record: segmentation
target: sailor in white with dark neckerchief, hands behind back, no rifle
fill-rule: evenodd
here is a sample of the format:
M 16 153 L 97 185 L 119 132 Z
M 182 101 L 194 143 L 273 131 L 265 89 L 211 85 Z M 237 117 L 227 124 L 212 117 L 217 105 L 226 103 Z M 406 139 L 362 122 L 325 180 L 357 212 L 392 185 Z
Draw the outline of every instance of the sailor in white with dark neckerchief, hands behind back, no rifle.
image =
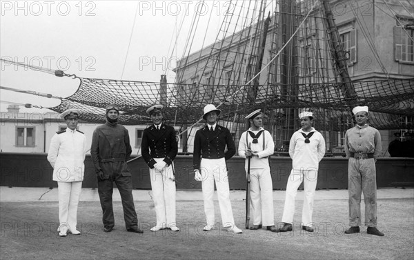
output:
M 289 143 L 289 155 L 292 158 L 292 170 L 286 186 L 286 199 L 282 222 L 284 226 L 279 232 L 293 230 L 293 214 L 295 214 L 295 197 L 300 183 L 304 182 L 304 207 L 302 210 L 302 229 L 313 232 L 312 212 L 313 198 L 317 184 L 319 161 L 325 155 L 325 139 L 312 127 L 313 113 L 299 113 L 301 129 L 293 133 Z

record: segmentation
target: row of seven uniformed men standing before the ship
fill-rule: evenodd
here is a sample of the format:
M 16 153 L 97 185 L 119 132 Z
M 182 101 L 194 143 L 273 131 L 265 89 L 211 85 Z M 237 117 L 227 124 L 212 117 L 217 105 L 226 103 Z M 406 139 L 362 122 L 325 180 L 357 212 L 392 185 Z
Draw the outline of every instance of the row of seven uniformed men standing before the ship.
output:
M 157 223 L 150 228 L 179 231 L 175 210 L 175 173 L 173 161 L 177 155 L 177 139 L 174 128 L 163 123 L 163 106 L 155 105 L 146 110 L 152 125 L 146 130 L 141 142 L 141 154 L 150 168 L 150 183 Z M 228 128 L 217 124 L 221 110 L 214 105 L 204 107 L 206 126 L 197 130 L 194 141 L 193 168 L 195 180 L 201 181 L 206 226 L 215 228 L 213 194 L 217 187 L 221 225 L 229 232 L 242 233 L 237 228 L 230 203 L 230 188 L 226 160 L 236 153 L 235 142 Z M 68 128 L 57 132 L 50 143 L 48 161 L 54 168 L 53 180 L 59 189 L 59 236 L 77 230 L 77 205 L 83 180 L 83 161 L 86 154 L 85 135 L 77 130 L 79 110 L 67 110 L 61 114 Z M 346 234 L 359 232 L 361 192 L 364 192 L 365 223 L 368 234 L 383 236 L 377 230 L 377 203 L 375 162 L 381 152 L 380 133 L 368 126 L 368 107 L 353 109 L 357 125 L 345 135 L 345 152 L 348 161 L 349 221 Z M 98 126 L 92 135 L 90 154 L 97 174 L 98 193 L 103 212 L 103 231 L 111 232 L 115 226 L 112 209 L 113 182 L 117 184 L 124 208 L 126 230 L 142 233 L 132 197 L 132 178 L 127 160 L 132 152 L 128 130 L 118 123 L 119 107 L 106 108 L 106 123 Z M 271 232 L 293 230 L 295 197 L 299 185 L 304 183 L 302 229 L 313 232 L 313 200 L 317 186 L 319 161 L 325 154 L 322 134 L 313 128 L 313 113 L 301 112 L 301 128 L 290 139 L 289 155 L 293 167 L 286 186 L 286 199 L 282 228 L 275 227 L 273 209 L 273 184 L 270 172 L 270 155 L 275 150 L 272 135 L 262 127 L 264 114 L 255 110 L 248 114 L 248 130 L 239 141 L 238 154 L 246 158 L 246 172 L 250 173 L 250 203 L 253 226 L 250 230 L 266 227 Z

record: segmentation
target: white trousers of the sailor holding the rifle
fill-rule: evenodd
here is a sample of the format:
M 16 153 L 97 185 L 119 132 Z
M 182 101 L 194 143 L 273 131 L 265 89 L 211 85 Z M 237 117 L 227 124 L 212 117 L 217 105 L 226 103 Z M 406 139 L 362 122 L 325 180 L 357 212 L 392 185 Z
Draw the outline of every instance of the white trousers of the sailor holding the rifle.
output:
M 250 203 L 253 225 L 275 225 L 273 183 L 270 168 L 250 169 Z

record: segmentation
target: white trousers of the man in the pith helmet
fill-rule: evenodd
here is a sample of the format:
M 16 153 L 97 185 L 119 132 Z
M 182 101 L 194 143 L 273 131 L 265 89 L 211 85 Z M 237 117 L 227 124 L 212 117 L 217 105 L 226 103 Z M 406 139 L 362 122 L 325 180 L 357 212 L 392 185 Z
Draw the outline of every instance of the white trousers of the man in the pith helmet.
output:
M 201 159 L 200 173 L 202 177 L 201 188 L 203 190 L 204 213 L 206 214 L 207 225 L 215 225 L 214 212 L 214 183 L 217 187 L 217 197 L 221 213 L 221 222 L 224 227 L 235 225 L 233 210 L 230 203 L 230 188 L 226 161 L 221 159 Z

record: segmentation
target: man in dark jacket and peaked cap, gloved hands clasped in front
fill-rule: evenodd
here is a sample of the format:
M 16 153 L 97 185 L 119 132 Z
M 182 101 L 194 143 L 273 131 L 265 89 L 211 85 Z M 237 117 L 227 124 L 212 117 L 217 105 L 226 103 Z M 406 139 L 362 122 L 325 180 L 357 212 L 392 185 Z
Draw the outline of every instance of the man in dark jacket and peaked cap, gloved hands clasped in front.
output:
M 148 110 L 152 125 L 142 135 L 142 157 L 150 167 L 152 199 L 157 214 L 157 224 L 151 231 L 170 228 L 178 231 L 175 222 L 175 177 L 172 160 L 177 156 L 178 146 L 175 130 L 162 123 L 162 105 Z

